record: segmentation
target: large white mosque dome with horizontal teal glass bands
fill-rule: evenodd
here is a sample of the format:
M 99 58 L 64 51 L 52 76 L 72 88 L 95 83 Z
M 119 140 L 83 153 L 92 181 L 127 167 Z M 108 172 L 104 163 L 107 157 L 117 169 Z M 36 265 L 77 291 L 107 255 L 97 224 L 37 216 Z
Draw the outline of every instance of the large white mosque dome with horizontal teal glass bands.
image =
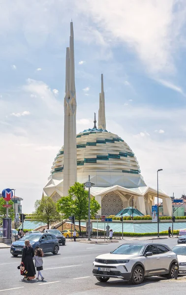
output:
M 124 140 L 102 129 L 87 129 L 77 136 L 77 180 L 91 180 L 97 187 L 145 186 L 138 161 Z M 49 179 L 63 178 L 63 147 L 53 162 Z

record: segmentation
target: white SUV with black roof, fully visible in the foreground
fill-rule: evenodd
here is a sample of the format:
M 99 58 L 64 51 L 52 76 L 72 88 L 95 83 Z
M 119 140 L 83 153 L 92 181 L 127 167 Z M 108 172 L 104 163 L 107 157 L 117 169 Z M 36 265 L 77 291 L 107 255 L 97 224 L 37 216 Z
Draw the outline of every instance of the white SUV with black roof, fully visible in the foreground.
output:
M 99 282 L 120 278 L 140 284 L 144 277 L 174 277 L 177 255 L 162 244 L 126 243 L 116 250 L 99 255 L 93 262 L 93 275 Z

